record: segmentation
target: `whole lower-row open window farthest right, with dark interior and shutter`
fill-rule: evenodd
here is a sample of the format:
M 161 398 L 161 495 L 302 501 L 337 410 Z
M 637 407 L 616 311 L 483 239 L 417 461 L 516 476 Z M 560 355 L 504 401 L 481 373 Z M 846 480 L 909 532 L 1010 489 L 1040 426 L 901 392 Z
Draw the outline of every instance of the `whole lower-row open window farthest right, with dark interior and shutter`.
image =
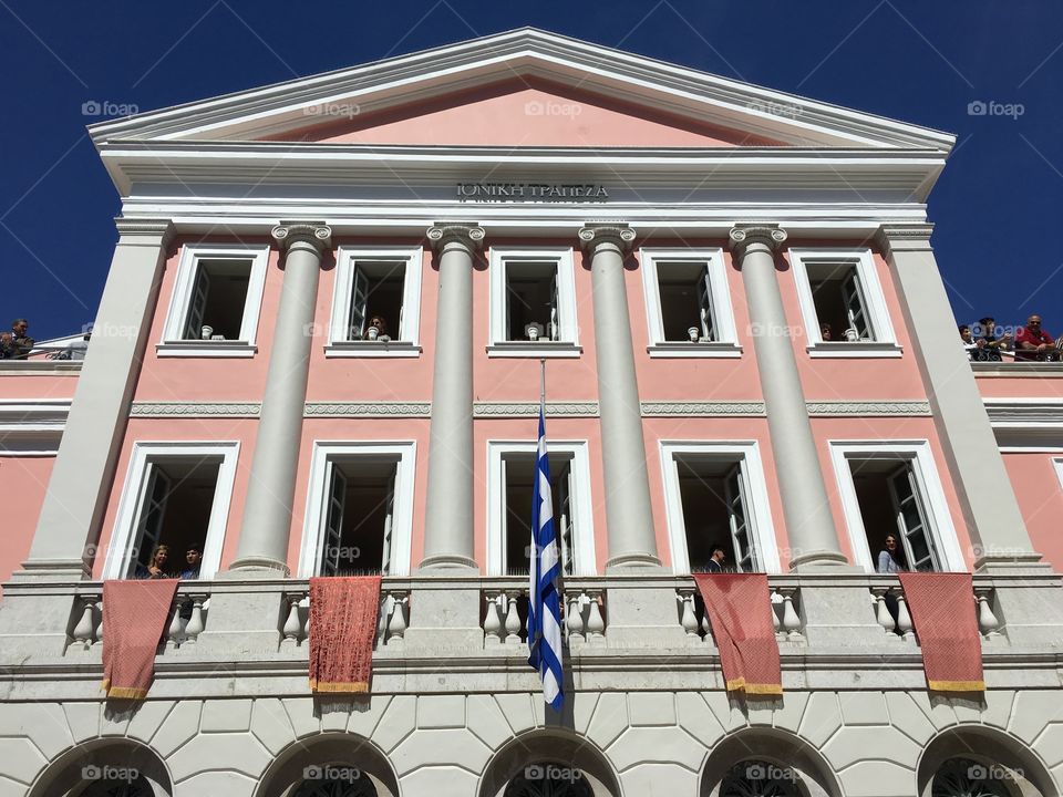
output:
M 832 443 L 830 454 L 858 563 L 875 572 L 892 536 L 894 559 L 906 570 L 963 569 L 927 443 Z

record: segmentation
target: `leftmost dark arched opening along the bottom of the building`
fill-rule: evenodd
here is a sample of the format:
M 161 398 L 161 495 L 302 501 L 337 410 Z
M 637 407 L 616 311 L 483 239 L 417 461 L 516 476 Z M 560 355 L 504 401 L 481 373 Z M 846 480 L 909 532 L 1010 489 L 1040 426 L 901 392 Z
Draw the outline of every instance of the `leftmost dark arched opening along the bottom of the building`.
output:
M 106 794 L 107 784 L 124 784 L 128 797 L 172 797 L 174 794 L 169 769 L 151 747 L 128 738 L 97 738 L 83 742 L 52 760 L 37 776 L 27 797 Z

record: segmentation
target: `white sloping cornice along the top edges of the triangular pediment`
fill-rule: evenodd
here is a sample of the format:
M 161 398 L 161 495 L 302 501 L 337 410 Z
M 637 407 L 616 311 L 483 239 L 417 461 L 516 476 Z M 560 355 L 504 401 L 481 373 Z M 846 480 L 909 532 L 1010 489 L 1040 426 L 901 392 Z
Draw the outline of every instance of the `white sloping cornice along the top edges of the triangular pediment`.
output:
M 308 110 L 326 103 L 348 103 L 367 114 L 529 76 L 786 144 L 947 153 L 954 142 L 926 127 L 529 28 L 103 122 L 90 132 L 97 146 L 118 138 L 255 138 L 307 127 Z M 786 113 L 772 113 L 776 106 Z

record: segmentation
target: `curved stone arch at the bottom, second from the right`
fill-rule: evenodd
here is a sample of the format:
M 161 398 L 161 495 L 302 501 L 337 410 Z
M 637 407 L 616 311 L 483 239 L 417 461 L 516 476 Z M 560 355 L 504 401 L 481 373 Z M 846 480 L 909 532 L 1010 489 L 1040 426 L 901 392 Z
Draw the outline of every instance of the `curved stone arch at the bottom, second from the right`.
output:
M 721 739 L 701 773 L 700 797 L 720 797 L 735 767 L 760 767 L 768 775 L 792 778 L 799 797 L 840 797 L 842 787 L 830 765 L 808 742 L 776 728 L 746 727 Z

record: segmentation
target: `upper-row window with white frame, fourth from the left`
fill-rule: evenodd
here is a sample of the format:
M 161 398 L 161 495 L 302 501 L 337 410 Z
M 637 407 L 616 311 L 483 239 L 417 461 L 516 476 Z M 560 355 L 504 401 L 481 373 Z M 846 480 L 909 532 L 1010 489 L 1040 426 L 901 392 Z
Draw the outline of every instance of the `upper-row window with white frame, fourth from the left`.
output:
M 642 249 L 650 356 L 739 356 L 721 249 Z

